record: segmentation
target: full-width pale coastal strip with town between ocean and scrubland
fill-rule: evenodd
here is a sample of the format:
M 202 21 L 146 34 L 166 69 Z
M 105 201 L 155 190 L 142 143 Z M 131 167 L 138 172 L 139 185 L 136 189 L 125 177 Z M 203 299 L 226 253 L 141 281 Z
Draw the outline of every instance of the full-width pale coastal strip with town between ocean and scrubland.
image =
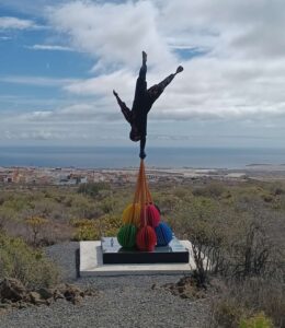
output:
M 135 183 L 138 167 L 81 168 L 0 166 L 0 184 L 75 186 L 86 183 Z M 186 183 L 195 179 L 272 181 L 285 180 L 285 165 L 251 164 L 246 168 L 146 167 L 150 183 Z

